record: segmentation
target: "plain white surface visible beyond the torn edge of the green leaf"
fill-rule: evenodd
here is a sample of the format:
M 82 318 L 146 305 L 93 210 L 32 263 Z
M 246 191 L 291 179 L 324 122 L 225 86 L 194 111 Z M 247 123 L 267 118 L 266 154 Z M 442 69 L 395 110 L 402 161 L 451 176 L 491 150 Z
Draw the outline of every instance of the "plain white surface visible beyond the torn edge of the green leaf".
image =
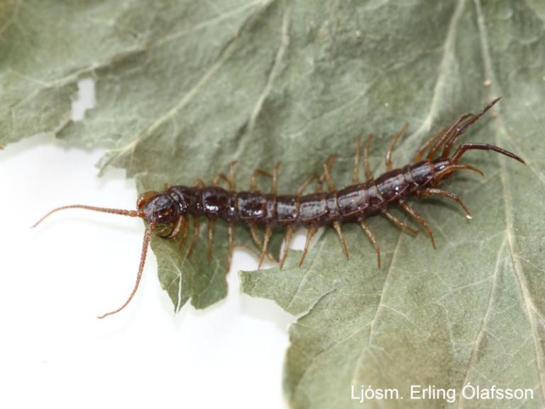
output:
M 285 408 L 294 318 L 239 294 L 255 258 L 236 251 L 226 300 L 174 315 L 150 251 L 131 305 L 97 320 L 132 288 L 141 220 L 74 209 L 30 228 L 59 205 L 134 208 L 123 171 L 97 177 L 103 153 L 46 137 L 0 151 L 0 407 Z

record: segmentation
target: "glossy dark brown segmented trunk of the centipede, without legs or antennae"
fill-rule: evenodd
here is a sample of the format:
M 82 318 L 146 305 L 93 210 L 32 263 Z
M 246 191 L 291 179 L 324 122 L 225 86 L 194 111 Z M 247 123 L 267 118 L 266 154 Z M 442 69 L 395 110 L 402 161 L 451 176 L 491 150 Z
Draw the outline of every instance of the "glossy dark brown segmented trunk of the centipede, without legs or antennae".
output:
M 173 186 L 158 194 L 163 200 L 150 203 L 148 220 L 154 210 L 164 209 L 165 202 L 175 204 L 170 214 L 191 214 L 194 217 L 224 219 L 269 227 L 323 226 L 334 222 L 363 220 L 405 200 L 427 187 L 448 160 L 422 160 L 404 168 L 390 170 L 375 180 L 350 185 L 341 190 L 309 195 L 273 195 L 258 191 L 229 192 L 221 187 Z M 155 222 L 163 222 L 155 220 Z

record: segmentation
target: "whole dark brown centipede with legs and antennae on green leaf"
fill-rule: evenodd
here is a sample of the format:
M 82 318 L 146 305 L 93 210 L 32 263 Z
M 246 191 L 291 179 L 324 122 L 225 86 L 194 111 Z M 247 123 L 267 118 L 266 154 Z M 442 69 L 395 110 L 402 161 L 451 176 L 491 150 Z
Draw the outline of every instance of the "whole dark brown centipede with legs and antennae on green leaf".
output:
M 494 151 L 518 160 L 525 165 L 524 160 L 514 153 L 488 143 L 461 143 L 456 151 L 452 153 L 456 141 L 463 133 L 500 99 L 501 97 L 492 100 L 476 114 L 468 113 L 460 116 L 451 126 L 441 129 L 441 131 L 428 138 L 416 151 L 409 164 L 404 165 L 402 168 L 393 168 L 392 151 L 400 137 L 407 131 L 408 124 L 404 124 L 402 129 L 395 133 L 387 148 L 385 156 L 386 172 L 382 173 L 378 178 L 375 178 L 370 170 L 369 150 L 373 138 L 370 134 L 365 146 L 363 146 L 364 182 L 360 182 L 359 178 L 360 140 L 358 138 L 354 158 L 353 184 L 342 189 L 336 189 L 334 182 L 331 180 L 331 168 L 336 161 L 336 156 L 327 157 L 324 160 L 323 172 L 311 175 L 292 195 L 277 195 L 277 173 L 280 162 L 275 165 L 272 172 L 261 169 L 255 170 L 251 176 L 250 189 L 245 191 L 236 190 L 234 172 L 236 162 L 232 162 L 229 165 L 228 175 L 220 173 L 214 178 L 211 185 L 205 185 L 199 179 L 192 186 L 167 186 L 165 190 L 160 192 L 145 192 L 138 197 L 136 209 L 113 209 L 90 205 L 57 207 L 45 214 L 33 227 L 38 226 L 51 214 L 65 209 L 86 209 L 94 212 L 121 214 L 128 217 L 139 217 L 146 222 L 140 265 L 138 266 L 133 289 L 120 307 L 100 315 L 99 318 L 120 312 L 133 299 L 141 281 L 148 245 L 153 234 L 167 240 L 181 237 L 181 248 L 188 237 L 189 224 L 192 222 L 192 237 L 187 250 L 187 257 L 189 257 L 199 237 L 202 218 L 208 221 L 207 257 L 209 262 L 212 257 L 216 221 L 222 219 L 227 223 L 229 253 L 226 262 L 228 271 L 235 247 L 234 231 L 236 224 L 245 224 L 248 227 L 255 246 L 258 247 L 258 268 L 261 267 L 265 258 L 275 259 L 268 253 L 268 245 L 273 231 L 277 229 L 285 231 L 284 246 L 278 261 L 280 269 L 282 269 L 287 258 L 290 241 L 297 228 L 307 228 L 307 238 L 299 260 L 299 266 L 302 266 L 312 237 L 320 227 L 331 227 L 336 231 L 342 251 L 346 258 L 349 258 L 342 225 L 357 223 L 374 247 L 378 268 L 380 269 L 380 248 L 375 234 L 365 222 L 366 219 L 382 216 L 403 231 L 416 234 L 417 229 L 409 226 L 409 224 L 398 219 L 390 212 L 392 207 L 400 207 L 426 231 L 431 239 L 431 245 L 435 248 L 436 244 L 431 227 L 422 215 L 408 205 L 407 200 L 409 198 L 445 197 L 460 205 L 466 217 L 470 219 L 470 212 L 461 198 L 453 192 L 440 188 L 441 183 L 451 178 L 453 173 L 458 170 L 471 170 L 484 175 L 483 171 L 475 168 L 475 166 L 460 162 L 467 151 Z M 258 190 L 257 181 L 259 176 L 265 176 L 272 180 L 269 193 Z M 316 191 L 305 194 L 304 192 L 313 182 L 316 182 Z M 221 187 L 221 183 L 226 188 Z M 324 190 L 322 185 L 326 185 L 327 189 Z M 264 229 L 263 240 L 260 239 L 258 228 Z

